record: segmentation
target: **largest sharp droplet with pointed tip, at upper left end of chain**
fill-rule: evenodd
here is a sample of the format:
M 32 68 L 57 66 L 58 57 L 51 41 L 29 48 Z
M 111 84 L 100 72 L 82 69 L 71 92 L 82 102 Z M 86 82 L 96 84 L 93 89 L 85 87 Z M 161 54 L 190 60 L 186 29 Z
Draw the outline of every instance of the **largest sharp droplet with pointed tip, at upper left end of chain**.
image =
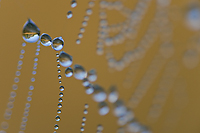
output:
M 24 41 L 29 43 L 35 43 L 38 41 L 40 37 L 40 29 L 31 19 L 28 19 L 28 21 L 24 24 L 22 37 Z

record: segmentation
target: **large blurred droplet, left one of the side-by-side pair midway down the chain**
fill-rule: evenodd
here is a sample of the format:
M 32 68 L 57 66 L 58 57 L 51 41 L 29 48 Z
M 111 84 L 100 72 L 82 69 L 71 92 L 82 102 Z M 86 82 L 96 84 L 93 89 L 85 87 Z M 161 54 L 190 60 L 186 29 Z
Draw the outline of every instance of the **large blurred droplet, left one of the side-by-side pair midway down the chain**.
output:
M 97 84 L 93 85 L 93 87 L 94 87 L 93 99 L 96 102 L 103 102 L 104 100 L 106 100 L 106 93 L 104 89 Z

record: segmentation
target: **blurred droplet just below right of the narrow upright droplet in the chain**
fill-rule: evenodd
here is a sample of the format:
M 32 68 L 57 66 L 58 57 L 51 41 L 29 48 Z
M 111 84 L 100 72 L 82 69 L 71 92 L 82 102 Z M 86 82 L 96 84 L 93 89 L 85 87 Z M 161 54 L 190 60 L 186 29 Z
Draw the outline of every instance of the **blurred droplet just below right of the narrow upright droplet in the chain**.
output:
M 117 117 L 123 116 L 127 113 L 127 108 L 124 105 L 124 102 L 121 100 L 117 100 L 114 103 L 114 115 Z

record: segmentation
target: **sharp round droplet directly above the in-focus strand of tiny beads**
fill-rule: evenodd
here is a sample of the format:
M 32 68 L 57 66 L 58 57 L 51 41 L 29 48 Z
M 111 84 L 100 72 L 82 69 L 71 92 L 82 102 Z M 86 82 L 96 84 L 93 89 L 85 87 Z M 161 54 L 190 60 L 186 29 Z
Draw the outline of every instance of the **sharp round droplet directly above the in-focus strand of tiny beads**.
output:
M 55 51 L 59 51 L 64 46 L 64 40 L 62 39 L 62 37 L 56 37 L 53 39 L 51 46 Z

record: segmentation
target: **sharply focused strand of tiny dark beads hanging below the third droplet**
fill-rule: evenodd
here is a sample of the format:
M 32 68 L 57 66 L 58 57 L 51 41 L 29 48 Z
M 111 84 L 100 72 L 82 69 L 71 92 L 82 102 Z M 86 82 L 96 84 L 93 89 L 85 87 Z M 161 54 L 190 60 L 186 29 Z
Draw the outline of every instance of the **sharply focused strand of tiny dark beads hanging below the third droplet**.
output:
M 56 61 L 57 61 L 57 68 L 58 68 L 58 70 L 57 70 L 57 72 L 58 72 L 58 79 L 59 79 L 59 84 L 61 84 L 62 83 L 62 81 L 61 81 L 61 78 L 62 78 L 62 76 L 61 76 L 61 70 L 60 70 L 60 64 L 59 64 L 59 54 L 58 53 L 56 53 L 56 57 L 57 57 L 57 59 L 56 59 Z M 56 117 L 55 117 L 55 120 L 58 122 L 58 121 L 60 121 L 60 114 L 61 114 L 61 108 L 62 108 L 62 102 L 63 102 L 63 99 L 62 99 L 62 97 L 64 96 L 64 94 L 63 94 L 63 91 L 64 91 L 64 86 L 59 86 L 59 90 L 60 90 L 60 92 L 59 92 L 59 99 L 58 99 L 58 109 L 57 109 L 57 115 L 56 115 Z M 59 125 L 58 124 L 55 124 L 54 125 L 54 133 L 56 133 L 56 131 L 58 130 L 58 128 L 59 128 Z

